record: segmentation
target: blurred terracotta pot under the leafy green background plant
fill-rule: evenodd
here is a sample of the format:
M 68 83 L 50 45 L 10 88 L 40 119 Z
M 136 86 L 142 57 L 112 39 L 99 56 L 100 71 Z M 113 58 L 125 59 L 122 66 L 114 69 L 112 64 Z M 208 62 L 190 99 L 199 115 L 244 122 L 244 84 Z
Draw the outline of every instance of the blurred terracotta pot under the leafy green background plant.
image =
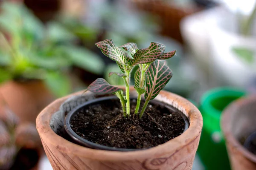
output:
M 53 99 L 41 81 L 10 81 L 0 86 L 0 104 L 5 101 L 21 122 L 35 122 L 38 113 Z

